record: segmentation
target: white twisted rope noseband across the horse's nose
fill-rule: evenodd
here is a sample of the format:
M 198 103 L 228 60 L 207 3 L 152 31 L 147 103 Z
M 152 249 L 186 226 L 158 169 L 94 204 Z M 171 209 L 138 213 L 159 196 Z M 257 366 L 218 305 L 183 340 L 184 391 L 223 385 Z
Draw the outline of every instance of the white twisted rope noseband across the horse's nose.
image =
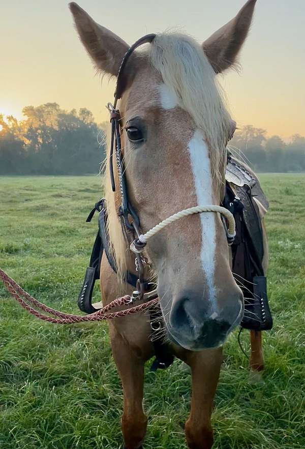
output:
M 145 234 L 140 234 L 138 236 L 138 242 L 143 245 L 142 248 L 136 246 L 136 241 L 132 242 L 130 245 L 131 251 L 134 253 L 141 253 L 144 249 L 144 245 L 147 243 L 148 238 L 153 237 L 153 235 L 157 234 L 157 232 L 161 231 L 165 226 L 173 223 L 174 221 L 179 220 L 182 217 L 188 217 L 189 215 L 199 214 L 201 212 L 219 212 L 228 220 L 228 230 L 227 237 L 228 239 L 233 239 L 236 235 L 235 232 L 235 220 L 233 215 L 228 209 L 222 206 L 217 206 L 215 204 L 205 205 L 205 206 L 194 206 L 189 207 L 188 209 L 183 209 L 183 211 L 177 212 L 176 214 L 171 215 L 165 220 L 161 221 L 159 224 L 149 229 Z

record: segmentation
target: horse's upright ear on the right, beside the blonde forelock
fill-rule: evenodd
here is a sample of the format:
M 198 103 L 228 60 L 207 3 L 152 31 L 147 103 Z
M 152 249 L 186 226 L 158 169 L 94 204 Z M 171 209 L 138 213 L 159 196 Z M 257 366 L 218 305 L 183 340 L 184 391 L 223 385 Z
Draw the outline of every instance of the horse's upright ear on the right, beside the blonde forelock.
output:
M 256 0 L 248 0 L 237 16 L 203 42 L 203 50 L 216 73 L 236 62 L 236 56 L 248 35 Z

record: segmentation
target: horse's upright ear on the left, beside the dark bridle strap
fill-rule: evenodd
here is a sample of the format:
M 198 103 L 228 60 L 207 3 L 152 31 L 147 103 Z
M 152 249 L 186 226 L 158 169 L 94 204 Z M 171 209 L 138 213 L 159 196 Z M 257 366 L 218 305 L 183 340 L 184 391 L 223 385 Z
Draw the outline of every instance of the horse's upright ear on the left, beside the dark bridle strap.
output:
M 119 65 L 129 46 L 126 42 L 96 23 L 76 3 L 69 4 L 77 32 L 97 69 L 117 75 Z

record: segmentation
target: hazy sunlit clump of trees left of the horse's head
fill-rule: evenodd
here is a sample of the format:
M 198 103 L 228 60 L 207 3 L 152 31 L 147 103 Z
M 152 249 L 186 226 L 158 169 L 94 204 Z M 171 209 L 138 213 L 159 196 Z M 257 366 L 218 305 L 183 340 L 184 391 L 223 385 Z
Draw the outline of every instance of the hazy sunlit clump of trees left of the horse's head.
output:
M 60 109 L 57 103 L 23 108 L 18 123 L 1 117 L 0 172 L 5 174 L 98 173 L 104 159 L 103 133 L 92 112 Z M 102 139 L 99 138 L 99 141 Z

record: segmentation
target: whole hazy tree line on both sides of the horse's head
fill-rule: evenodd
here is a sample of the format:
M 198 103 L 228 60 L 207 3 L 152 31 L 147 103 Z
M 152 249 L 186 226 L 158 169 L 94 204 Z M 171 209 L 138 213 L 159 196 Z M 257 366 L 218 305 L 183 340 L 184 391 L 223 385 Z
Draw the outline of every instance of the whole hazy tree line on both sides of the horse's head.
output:
M 86 108 L 68 112 L 57 103 L 23 109 L 17 121 L 0 114 L 0 174 L 80 175 L 98 173 L 105 157 L 105 124 L 98 125 Z M 289 142 L 251 125 L 229 142 L 233 154 L 255 171 L 305 171 L 305 137 Z

